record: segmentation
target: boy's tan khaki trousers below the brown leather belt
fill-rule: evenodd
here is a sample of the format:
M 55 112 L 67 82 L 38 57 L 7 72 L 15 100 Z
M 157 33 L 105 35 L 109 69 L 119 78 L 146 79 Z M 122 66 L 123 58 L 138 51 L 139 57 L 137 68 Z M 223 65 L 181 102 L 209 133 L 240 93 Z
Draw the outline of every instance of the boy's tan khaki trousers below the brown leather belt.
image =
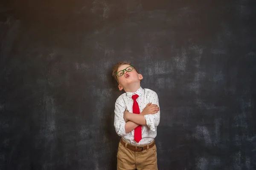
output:
M 127 142 L 125 142 L 127 143 Z M 150 144 L 152 144 L 151 142 Z M 147 145 L 150 145 L 147 144 Z M 131 144 L 132 145 L 132 144 Z M 144 147 L 147 145 L 141 145 Z M 132 145 L 134 146 L 134 145 Z M 133 151 L 119 142 L 117 151 L 117 170 L 157 170 L 157 147 L 143 151 Z

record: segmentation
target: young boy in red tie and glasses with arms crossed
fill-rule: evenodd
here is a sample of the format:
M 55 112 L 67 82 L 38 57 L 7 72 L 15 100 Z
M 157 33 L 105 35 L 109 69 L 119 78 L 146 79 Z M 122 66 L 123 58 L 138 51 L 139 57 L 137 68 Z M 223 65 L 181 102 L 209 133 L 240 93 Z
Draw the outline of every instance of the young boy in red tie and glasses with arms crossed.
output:
M 143 76 L 128 62 L 113 67 L 119 90 L 115 104 L 114 127 L 121 136 L 117 152 L 117 170 L 157 170 L 154 138 L 160 122 L 157 93 L 143 89 Z

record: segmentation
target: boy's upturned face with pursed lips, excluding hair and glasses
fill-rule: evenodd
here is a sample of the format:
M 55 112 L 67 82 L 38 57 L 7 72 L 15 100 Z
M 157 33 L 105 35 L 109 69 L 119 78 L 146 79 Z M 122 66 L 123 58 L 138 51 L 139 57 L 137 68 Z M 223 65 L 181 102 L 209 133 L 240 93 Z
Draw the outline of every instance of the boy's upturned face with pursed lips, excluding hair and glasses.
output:
M 122 66 L 119 66 L 117 72 L 126 69 L 128 66 L 128 64 L 124 64 Z M 143 79 L 143 76 L 141 74 L 139 74 L 136 69 L 133 69 L 130 72 L 127 72 L 124 70 L 124 74 L 121 76 L 117 76 L 117 79 L 119 81 L 119 90 L 122 90 L 123 88 L 133 84 L 133 83 L 140 83 L 140 80 Z

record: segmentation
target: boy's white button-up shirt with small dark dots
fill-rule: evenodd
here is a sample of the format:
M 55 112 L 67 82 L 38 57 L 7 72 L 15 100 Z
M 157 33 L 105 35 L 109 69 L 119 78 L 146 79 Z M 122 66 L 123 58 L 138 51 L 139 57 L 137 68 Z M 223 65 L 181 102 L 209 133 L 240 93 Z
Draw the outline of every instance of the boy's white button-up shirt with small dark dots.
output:
M 116 129 L 116 133 L 122 138 L 134 145 L 142 145 L 142 144 L 149 144 L 154 140 L 157 136 L 157 126 L 160 122 L 160 111 L 155 114 L 151 115 L 144 115 L 147 126 L 142 126 L 142 139 L 137 143 L 134 141 L 134 130 L 130 133 L 125 133 L 125 119 L 124 119 L 124 112 L 128 110 L 132 113 L 132 105 L 133 99 L 131 98 L 132 95 L 137 94 L 139 97 L 136 99 L 139 107 L 140 112 L 143 111 L 145 106 L 149 103 L 157 104 L 159 107 L 158 96 L 157 93 L 151 89 L 143 89 L 140 87 L 136 92 L 125 92 L 119 96 L 116 100 L 115 104 L 115 117 L 114 117 L 114 127 Z

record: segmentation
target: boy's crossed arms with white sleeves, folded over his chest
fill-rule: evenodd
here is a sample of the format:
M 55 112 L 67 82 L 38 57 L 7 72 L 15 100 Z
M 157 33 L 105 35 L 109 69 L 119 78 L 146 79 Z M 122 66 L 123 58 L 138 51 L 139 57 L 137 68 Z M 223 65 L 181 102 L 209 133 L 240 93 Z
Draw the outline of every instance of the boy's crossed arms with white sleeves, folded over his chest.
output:
M 157 96 L 156 96 L 157 97 Z M 140 114 L 134 114 L 125 110 L 121 104 L 115 105 L 114 126 L 119 136 L 125 136 L 134 130 L 138 125 L 148 126 L 154 131 L 154 127 L 159 124 L 160 112 L 157 101 L 149 103 Z

